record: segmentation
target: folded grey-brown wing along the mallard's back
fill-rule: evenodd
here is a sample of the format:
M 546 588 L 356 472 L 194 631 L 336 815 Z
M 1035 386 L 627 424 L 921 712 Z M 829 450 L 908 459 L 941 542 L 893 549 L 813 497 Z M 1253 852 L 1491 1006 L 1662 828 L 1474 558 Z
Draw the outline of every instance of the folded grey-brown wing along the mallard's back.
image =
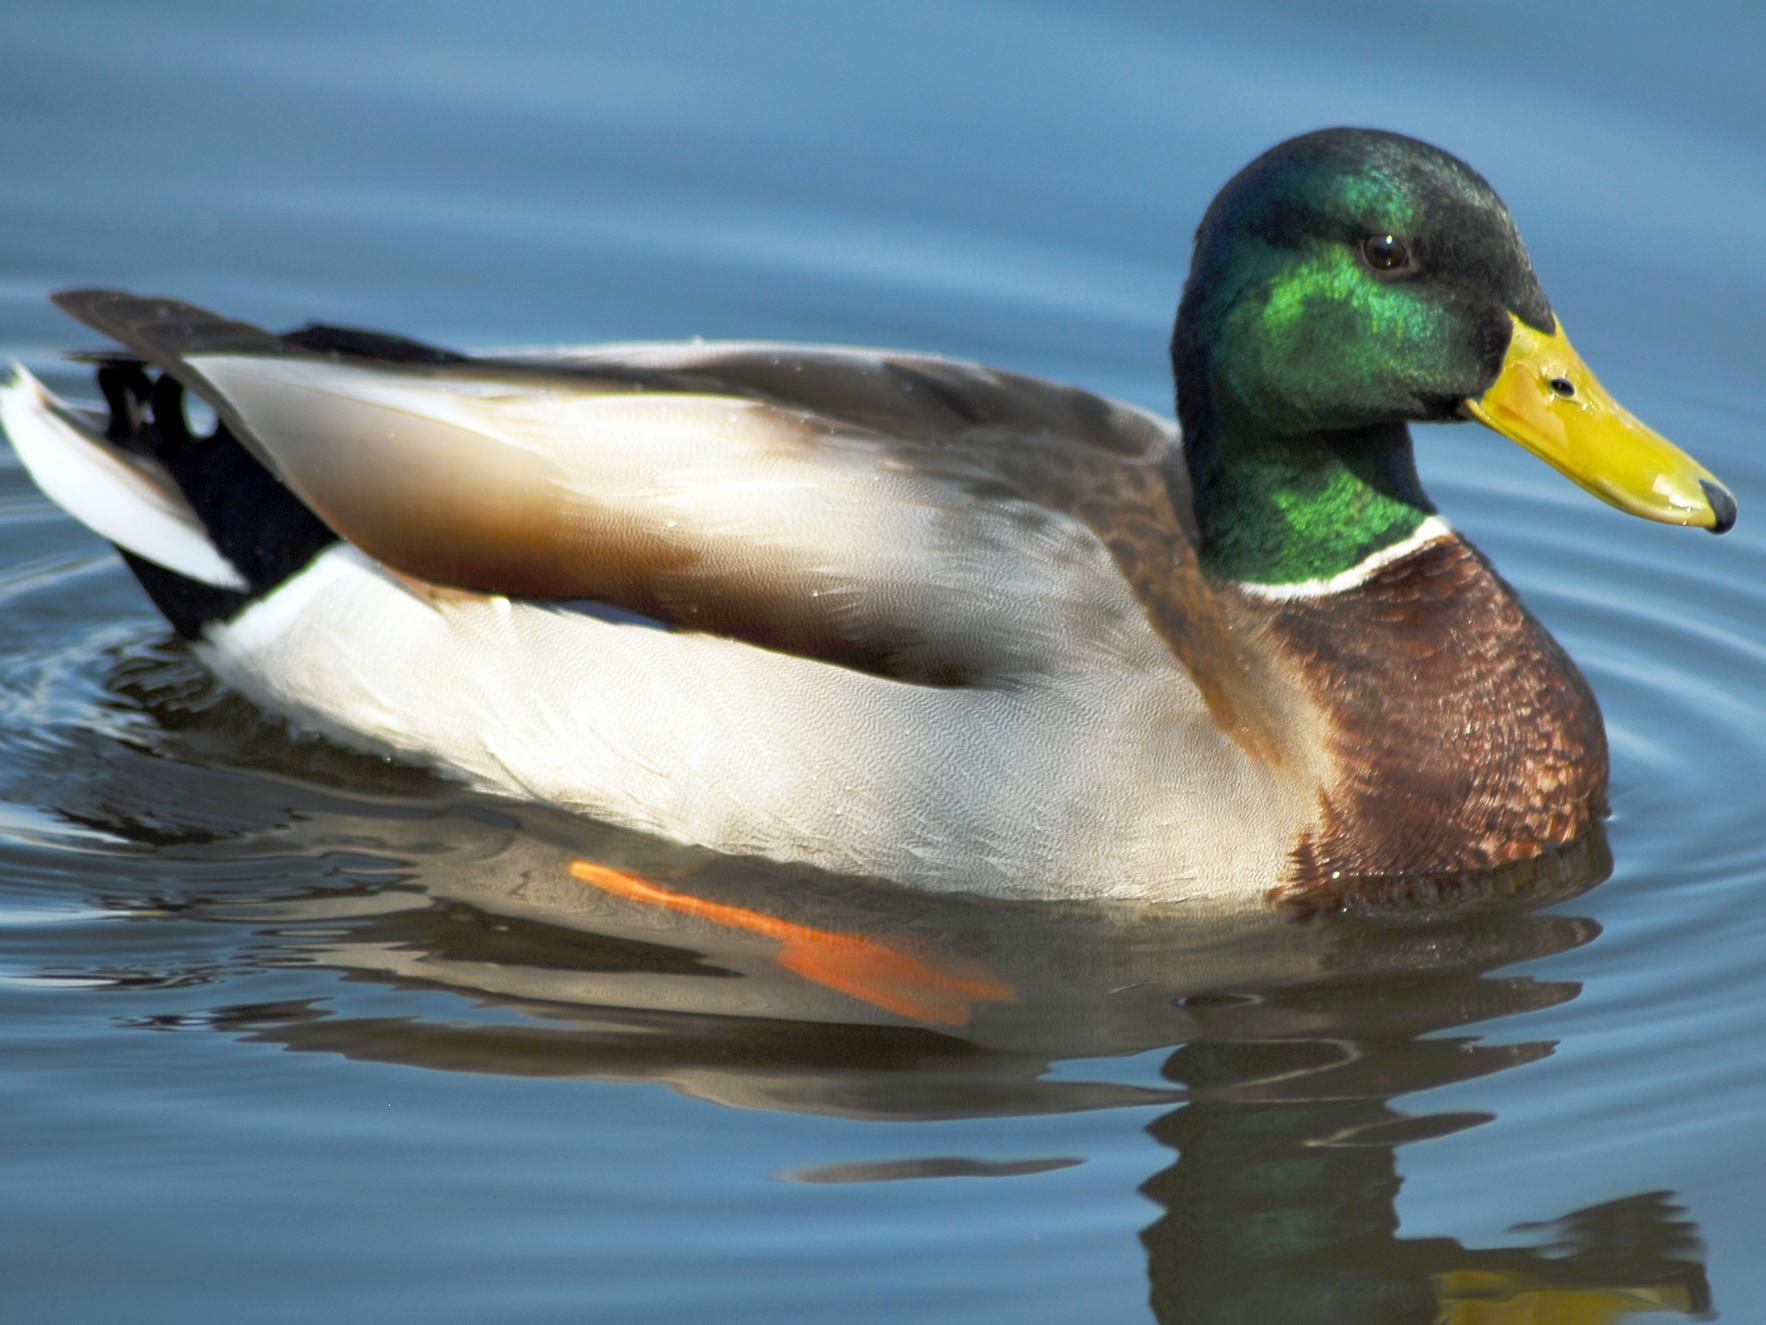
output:
M 802 346 L 470 359 L 58 302 L 210 399 L 337 535 L 434 585 L 961 685 L 1144 654 L 1125 565 L 1192 574 L 1169 426 L 1053 383 Z

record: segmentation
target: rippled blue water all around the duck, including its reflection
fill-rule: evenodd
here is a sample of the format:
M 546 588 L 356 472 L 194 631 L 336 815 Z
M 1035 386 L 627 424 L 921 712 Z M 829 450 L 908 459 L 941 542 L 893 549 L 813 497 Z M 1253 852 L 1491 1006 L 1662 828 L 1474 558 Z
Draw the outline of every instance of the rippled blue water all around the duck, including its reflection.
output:
M 1374 124 L 1489 175 L 1741 523 L 1425 429 L 1600 696 L 1612 874 L 1272 938 L 713 860 L 300 738 L 5 458 L 7 1318 L 1759 1318 L 1762 57 L 1740 4 L 11 5 L 0 352 L 67 392 L 92 339 L 46 293 L 115 283 L 461 346 L 911 346 L 1164 410 L 1213 191 Z M 975 984 L 855 998 L 572 859 Z

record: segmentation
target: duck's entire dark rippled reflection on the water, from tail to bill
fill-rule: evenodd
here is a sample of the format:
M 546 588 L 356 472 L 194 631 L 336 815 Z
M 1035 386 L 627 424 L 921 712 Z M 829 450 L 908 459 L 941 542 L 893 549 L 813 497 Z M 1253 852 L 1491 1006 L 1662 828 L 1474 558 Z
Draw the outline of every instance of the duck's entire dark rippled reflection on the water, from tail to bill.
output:
M 1123 1125 L 1169 1152 L 1139 1184 L 1158 1207 L 1141 1242 L 1160 1321 L 1600 1323 L 1711 1306 L 1697 1228 L 1671 1192 L 1522 1212 L 1521 1246 L 1399 1233 L 1399 1150 L 1492 1120 L 1406 1097 L 1549 1056 L 1549 1041 L 1475 1028 L 1577 998 L 1577 982 L 1510 968 L 1591 942 L 1593 920 L 1513 905 L 1429 922 L 1197 920 L 904 894 L 516 811 L 291 742 L 180 655 L 117 664 L 106 689 L 120 714 L 106 756 L 44 795 L 104 844 L 92 850 L 132 862 L 92 905 L 233 938 L 201 968 L 95 977 L 346 977 L 343 991 L 132 1026 L 447 1072 L 668 1083 L 842 1118 L 1127 1109 Z M 129 714 L 152 723 L 131 728 Z M 155 749 L 166 742 L 182 758 Z M 219 749 L 231 768 L 187 761 Z M 53 763 L 44 753 L 18 776 L 53 781 Z M 1579 883 L 1604 864 L 1596 853 Z M 242 869 L 258 887 L 238 885 Z M 410 1011 L 353 1007 L 362 986 L 411 993 Z M 417 996 L 433 991 L 452 995 L 442 1014 Z M 1084 1159 L 924 1155 L 781 1177 L 1015 1177 Z

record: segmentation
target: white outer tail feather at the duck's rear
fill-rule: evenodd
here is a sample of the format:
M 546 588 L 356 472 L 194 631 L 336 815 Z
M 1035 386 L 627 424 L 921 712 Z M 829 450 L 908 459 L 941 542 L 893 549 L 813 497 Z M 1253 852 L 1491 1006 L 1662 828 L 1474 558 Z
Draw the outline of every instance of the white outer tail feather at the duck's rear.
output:
M 0 383 L 0 428 L 51 502 L 155 565 L 215 588 L 249 588 L 159 465 L 85 435 L 55 405 L 37 378 L 12 364 L 12 380 Z

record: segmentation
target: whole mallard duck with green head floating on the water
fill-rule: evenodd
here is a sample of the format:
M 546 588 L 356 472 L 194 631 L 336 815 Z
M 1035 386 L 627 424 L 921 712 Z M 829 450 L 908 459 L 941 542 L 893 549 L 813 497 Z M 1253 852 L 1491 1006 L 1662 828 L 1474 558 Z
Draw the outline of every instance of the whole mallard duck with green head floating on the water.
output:
M 19 367 L 5 431 L 226 684 L 498 793 L 913 887 L 1339 906 L 1563 852 L 1605 811 L 1595 696 L 1408 424 L 1736 518 L 1584 367 L 1491 186 L 1379 131 L 1213 200 L 1181 440 L 920 353 L 473 357 L 55 302 L 124 346 L 87 355 L 106 408 Z

